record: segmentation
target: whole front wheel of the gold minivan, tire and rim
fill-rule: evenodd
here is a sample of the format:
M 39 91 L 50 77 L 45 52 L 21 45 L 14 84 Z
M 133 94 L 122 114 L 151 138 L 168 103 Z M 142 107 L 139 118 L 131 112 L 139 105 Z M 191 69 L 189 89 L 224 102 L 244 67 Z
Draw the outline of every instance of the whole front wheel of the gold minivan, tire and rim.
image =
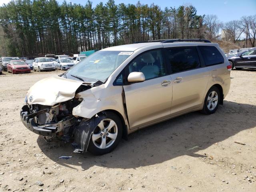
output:
M 106 112 L 103 119 L 95 128 L 89 142 L 88 150 L 95 155 L 103 155 L 116 148 L 122 138 L 122 121 L 112 113 Z

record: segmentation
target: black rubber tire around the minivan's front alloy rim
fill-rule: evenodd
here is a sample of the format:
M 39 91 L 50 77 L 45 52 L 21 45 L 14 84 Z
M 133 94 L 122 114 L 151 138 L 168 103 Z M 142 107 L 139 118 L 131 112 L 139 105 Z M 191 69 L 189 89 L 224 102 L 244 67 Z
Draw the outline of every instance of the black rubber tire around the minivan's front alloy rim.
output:
M 116 123 L 117 130 L 118 130 L 116 140 L 114 140 L 114 143 L 112 145 L 110 145 L 108 148 L 100 149 L 94 145 L 94 142 L 92 141 L 92 136 L 91 136 L 89 146 L 88 146 L 88 151 L 94 155 L 103 155 L 103 154 L 111 152 L 112 150 L 114 150 L 114 148 L 116 148 L 116 146 L 122 139 L 123 124 L 122 124 L 122 121 L 120 120 L 120 118 L 113 112 L 106 112 L 106 119 L 113 120 Z M 94 132 L 96 131 L 96 129 L 94 130 Z

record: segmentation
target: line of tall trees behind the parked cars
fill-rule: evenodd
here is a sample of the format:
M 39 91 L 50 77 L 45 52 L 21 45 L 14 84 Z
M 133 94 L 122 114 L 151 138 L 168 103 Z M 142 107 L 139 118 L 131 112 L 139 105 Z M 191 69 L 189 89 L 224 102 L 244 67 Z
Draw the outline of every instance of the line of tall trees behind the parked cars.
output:
M 139 1 L 117 5 L 108 0 L 92 7 L 91 1 L 81 5 L 66 1 L 59 4 L 56 0 L 12 0 L 0 7 L 0 54 L 73 54 L 156 39 L 213 40 L 219 38 L 221 28 L 234 36 L 234 42 L 246 33 L 254 45 L 256 16 L 243 19 L 237 28 L 233 23 L 229 28 L 217 16 L 198 15 L 192 5 L 161 10 L 156 4 Z

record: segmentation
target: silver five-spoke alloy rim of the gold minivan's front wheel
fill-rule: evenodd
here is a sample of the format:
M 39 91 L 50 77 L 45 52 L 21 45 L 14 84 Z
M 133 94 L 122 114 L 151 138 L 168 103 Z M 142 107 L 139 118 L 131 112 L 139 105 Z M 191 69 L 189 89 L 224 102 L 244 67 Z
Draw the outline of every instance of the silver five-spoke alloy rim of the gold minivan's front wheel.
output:
M 92 134 L 93 144 L 100 149 L 110 147 L 116 140 L 118 128 L 112 119 L 102 120 Z

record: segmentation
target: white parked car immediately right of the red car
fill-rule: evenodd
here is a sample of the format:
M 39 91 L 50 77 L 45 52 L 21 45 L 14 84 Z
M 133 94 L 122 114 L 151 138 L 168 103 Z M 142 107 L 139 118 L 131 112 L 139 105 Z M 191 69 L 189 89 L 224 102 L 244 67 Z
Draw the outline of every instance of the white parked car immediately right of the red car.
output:
M 47 57 L 38 57 L 34 59 L 33 70 L 55 70 L 55 66 L 50 58 Z

